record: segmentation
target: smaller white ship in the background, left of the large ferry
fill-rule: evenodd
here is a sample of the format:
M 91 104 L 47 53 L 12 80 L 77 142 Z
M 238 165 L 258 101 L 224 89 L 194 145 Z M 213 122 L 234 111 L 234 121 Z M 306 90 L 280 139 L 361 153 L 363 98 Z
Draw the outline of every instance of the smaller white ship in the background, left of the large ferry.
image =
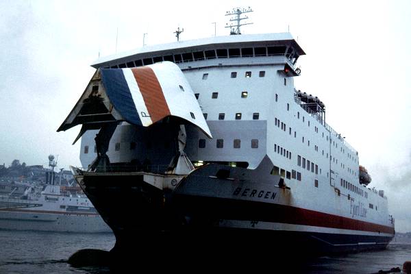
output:
M 45 232 L 111 232 L 78 186 L 54 179 L 56 162 L 42 182 L 0 183 L 0 229 Z M 60 177 L 61 183 L 61 177 Z

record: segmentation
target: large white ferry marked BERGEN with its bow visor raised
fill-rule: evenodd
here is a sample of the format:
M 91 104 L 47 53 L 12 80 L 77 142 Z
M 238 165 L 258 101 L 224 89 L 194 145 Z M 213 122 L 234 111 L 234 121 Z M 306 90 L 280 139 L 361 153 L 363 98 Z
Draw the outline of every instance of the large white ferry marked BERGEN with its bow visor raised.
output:
M 367 186 L 325 103 L 294 86 L 306 53 L 290 33 L 239 35 L 244 12 L 229 13 L 232 35 L 178 30 L 92 64 L 58 131 L 82 125 L 86 169 L 73 171 L 114 250 L 384 249 L 395 235 L 384 191 Z

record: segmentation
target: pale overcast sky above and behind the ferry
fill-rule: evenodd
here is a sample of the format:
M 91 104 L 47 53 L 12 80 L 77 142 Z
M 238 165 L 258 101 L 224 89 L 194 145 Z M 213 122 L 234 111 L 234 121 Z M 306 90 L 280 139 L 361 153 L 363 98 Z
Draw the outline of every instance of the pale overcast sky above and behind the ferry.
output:
M 84 91 L 89 64 L 142 46 L 226 35 L 227 10 L 251 5 L 244 34 L 290 32 L 306 51 L 296 87 L 326 105 L 386 190 L 398 231 L 411 231 L 410 1 L 1 1 L 0 163 L 79 166 L 79 129 L 56 133 Z M 119 29 L 116 46 L 116 32 Z

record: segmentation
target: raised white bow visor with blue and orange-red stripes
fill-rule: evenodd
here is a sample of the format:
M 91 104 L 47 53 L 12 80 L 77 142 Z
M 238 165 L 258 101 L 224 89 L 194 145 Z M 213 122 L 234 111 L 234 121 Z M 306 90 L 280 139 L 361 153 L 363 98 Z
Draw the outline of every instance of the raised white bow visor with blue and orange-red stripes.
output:
M 132 69 L 97 69 L 82 97 L 58 132 L 82 124 L 76 142 L 88 129 L 125 121 L 148 127 L 174 116 L 212 138 L 194 92 L 172 62 Z

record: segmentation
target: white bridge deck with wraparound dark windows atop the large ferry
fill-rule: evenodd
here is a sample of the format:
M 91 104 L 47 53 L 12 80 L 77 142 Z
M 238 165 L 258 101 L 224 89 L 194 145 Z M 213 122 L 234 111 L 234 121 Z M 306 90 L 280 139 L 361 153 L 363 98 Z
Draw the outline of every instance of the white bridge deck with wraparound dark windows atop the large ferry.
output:
M 92 66 L 124 69 L 169 61 L 180 69 L 230 65 L 285 64 L 288 76 L 299 75 L 295 64 L 306 53 L 291 34 L 249 34 L 202 38 L 145 46 L 140 49 L 110 55 Z

